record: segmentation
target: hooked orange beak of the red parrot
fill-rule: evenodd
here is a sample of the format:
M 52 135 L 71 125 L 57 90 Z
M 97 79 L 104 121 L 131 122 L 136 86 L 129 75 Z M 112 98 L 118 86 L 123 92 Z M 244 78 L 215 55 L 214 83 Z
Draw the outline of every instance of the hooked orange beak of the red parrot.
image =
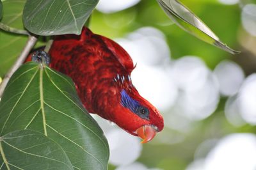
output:
M 150 125 L 145 125 L 143 127 L 140 127 L 136 130 L 138 136 L 143 139 L 141 143 L 147 143 L 148 141 L 151 141 L 155 135 L 156 135 L 156 130 L 150 126 Z

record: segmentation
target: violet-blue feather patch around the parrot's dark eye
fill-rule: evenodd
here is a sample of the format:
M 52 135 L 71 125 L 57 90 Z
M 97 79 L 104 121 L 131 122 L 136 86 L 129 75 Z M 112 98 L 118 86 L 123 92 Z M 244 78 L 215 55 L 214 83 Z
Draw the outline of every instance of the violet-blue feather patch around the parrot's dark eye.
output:
M 140 118 L 149 120 L 149 111 L 147 107 L 140 105 L 138 101 L 131 98 L 124 89 L 121 91 L 121 104 L 140 116 Z

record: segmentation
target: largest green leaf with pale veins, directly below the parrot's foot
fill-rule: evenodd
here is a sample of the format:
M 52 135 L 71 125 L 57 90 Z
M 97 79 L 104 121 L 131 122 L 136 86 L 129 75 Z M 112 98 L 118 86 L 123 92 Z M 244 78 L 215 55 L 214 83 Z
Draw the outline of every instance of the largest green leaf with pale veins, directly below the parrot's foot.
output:
M 109 148 L 102 130 L 84 109 L 72 80 L 29 62 L 8 82 L 0 102 L 0 134 L 41 132 L 60 144 L 75 169 L 107 169 Z

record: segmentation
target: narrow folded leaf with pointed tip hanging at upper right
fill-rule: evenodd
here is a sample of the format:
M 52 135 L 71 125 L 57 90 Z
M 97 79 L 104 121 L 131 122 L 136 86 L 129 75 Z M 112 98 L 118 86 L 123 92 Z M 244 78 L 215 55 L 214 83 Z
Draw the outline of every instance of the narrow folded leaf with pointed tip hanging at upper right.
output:
M 157 0 L 164 12 L 172 19 L 179 27 L 188 31 L 204 42 L 210 43 L 226 50 L 231 54 L 238 53 L 236 50 L 230 49 L 227 45 L 222 43 L 218 36 L 216 36 L 209 27 L 207 27 L 202 20 L 191 12 L 186 6 L 177 0 Z

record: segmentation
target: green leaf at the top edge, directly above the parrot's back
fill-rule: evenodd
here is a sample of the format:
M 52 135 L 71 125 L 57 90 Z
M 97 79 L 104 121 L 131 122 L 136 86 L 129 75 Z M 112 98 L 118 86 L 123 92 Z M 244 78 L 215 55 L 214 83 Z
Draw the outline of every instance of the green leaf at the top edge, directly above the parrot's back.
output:
M 28 0 L 24 7 L 24 26 L 36 35 L 80 35 L 99 0 Z

